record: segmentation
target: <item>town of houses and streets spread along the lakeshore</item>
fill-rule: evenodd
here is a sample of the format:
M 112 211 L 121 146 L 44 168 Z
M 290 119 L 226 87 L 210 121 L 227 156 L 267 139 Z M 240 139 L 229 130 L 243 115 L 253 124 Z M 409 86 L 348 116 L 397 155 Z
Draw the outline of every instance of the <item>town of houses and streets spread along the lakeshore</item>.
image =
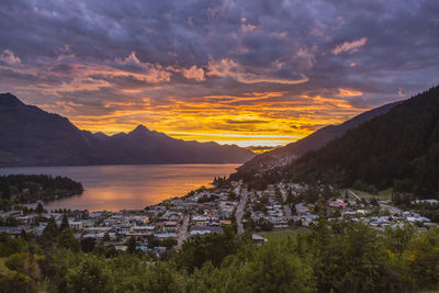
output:
M 238 234 L 251 232 L 254 243 L 260 245 L 267 239 L 258 233 L 306 230 L 322 213 L 317 201 L 309 202 L 309 187 L 303 184 L 279 183 L 255 191 L 243 181 L 215 178 L 213 185 L 135 211 L 45 211 L 40 203 L 35 210 L 0 212 L 3 223 L 0 233 L 41 236 L 47 226 L 46 219 L 54 219 L 58 227 L 67 221 L 78 240 L 87 238 L 126 251 L 128 239 L 134 239 L 136 250 L 159 256 L 180 249 L 193 237 L 221 233 L 228 225 L 236 225 Z M 323 200 L 329 221 L 361 221 L 380 230 L 407 224 L 419 230 L 437 227 L 430 218 L 416 211 L 398 209 L 391 200 L 367 199 L 351 190 L 335 192 L 330 188 L 314 192 L 329 192 Z M 439 201 L 417 200 L 414 204 L 437 207 Z

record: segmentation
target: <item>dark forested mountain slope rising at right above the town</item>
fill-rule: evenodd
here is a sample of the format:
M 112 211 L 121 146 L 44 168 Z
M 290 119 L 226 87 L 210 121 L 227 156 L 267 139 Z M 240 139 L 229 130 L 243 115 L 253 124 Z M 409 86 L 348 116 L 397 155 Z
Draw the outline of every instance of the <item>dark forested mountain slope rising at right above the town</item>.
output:
M 297 181 L 439 195 L 439 87 L 303 155 L 278 173 Z

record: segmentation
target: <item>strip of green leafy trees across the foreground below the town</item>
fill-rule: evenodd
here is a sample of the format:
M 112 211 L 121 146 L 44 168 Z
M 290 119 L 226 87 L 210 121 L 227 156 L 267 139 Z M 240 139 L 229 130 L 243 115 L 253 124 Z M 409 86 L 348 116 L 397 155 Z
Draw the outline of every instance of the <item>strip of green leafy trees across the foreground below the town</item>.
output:
M 439 230 L 378 232 L 323 216 L 309 233 L 257 247 L 234 227 L 195 237 L 160 259 L 75 241 L 49 225 L 40 238 L 0 235 L 4 292 L 412 292 L 439 289 Z M 41 239 L 44 238 L 44 239 Z M 42 245 L 44 244 L 44 245 Z M 111 251 L 111 253 L 110 253 Z

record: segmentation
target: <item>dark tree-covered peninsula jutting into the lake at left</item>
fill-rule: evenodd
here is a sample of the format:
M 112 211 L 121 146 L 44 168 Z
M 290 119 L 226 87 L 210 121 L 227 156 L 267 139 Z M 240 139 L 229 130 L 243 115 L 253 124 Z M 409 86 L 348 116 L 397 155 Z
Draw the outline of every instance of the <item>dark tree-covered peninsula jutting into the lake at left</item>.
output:
M 14 204 L 52 201 L 82 193 L 82 184 L 67 177 L 47 174 L 0 176 L 0 210 Z

